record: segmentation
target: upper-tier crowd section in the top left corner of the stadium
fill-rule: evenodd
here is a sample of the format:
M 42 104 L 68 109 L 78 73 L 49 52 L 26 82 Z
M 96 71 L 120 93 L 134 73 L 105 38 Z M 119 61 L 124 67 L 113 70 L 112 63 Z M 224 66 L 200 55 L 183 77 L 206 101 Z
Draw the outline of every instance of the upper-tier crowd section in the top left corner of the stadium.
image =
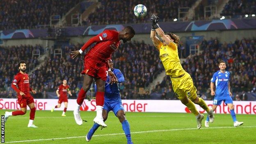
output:
M 1 0 L 0 30 L 50 25 L 50 16 L 62 16 L 80 0 Z

